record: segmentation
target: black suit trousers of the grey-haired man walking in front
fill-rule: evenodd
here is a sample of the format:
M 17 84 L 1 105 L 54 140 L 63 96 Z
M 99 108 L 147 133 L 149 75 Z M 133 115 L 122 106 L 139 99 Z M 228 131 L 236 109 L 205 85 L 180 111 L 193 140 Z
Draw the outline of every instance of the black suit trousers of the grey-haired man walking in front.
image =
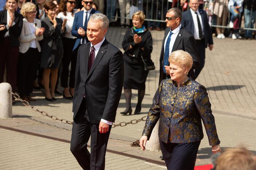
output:
M 70 151 L 84 170 L 104 170 L 105 155 L 111 126 L 107 133 L 99 133 L 99 125 L 86 118 L 85 98 L 74 118 Z M 91 137 L 91 152 L 87 149 Z

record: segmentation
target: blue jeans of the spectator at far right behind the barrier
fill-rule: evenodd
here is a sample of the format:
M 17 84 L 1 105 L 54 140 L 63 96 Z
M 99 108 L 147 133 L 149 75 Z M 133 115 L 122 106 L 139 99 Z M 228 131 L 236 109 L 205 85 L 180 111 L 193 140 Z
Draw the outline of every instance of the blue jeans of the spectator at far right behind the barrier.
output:
M 253 28 L 253 24 L 255 23 L 255 16 L 256 11 L 252 11 L 252 18 L 251 18 L 251 10 L 244 9 L 244 26 L 245 28 Z M 251 24 L 251 27 L 250 27 Z M 245 38 L 252 38 L 252 30 L 245 30 Z

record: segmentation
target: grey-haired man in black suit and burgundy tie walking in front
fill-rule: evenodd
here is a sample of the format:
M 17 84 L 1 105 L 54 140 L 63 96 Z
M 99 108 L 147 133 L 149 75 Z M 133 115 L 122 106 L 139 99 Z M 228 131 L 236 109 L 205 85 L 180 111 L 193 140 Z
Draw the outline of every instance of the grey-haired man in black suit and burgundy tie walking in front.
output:
M 105 167 L 106 146 L 123 87 L 123 53 L 105 39 L 108 25 L 104 14 L 93 14 L 87 27 L 90 43 L 81 45 L 77 55 L 70 150 L 86 170 Z

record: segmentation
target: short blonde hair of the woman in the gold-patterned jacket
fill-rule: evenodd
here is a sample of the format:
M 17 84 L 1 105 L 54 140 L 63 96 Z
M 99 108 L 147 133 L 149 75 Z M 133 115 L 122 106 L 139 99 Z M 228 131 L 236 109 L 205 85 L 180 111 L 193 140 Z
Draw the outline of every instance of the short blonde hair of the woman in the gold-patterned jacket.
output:
M 181 67 L 187 67 L 188 71 L 191 69 L 193 64 L 193 58 L 188 52 L 185 52 L 183 50 L 177 50 L 172 52 L 168 58 L 168 61 Z

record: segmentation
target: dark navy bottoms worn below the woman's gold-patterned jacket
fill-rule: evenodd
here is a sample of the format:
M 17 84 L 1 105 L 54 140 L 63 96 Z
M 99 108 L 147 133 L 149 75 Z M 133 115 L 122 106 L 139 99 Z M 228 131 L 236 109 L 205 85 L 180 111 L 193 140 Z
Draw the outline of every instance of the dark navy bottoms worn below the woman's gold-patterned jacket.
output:
M 191 143 L 164 143 L 159 139 L 168 170 L 194 170 L 201 141 Z

